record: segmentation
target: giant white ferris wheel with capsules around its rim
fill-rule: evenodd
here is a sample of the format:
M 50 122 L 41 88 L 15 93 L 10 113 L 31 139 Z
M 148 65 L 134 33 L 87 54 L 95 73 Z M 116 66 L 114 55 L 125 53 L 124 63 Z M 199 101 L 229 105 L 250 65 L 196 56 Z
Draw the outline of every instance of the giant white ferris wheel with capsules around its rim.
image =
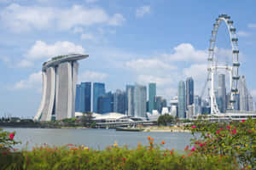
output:
M 216 37 L 218 33 L 218 27 L 221 25 L 221 23 L 225 24 L 227 26 L 229 34 L 230 34 L 230 42 L 231 42 L 231 48 L 232 48 L 232 64 L 231 65 L 220 65 L 218 62 L 216 62 L 214 59 L 214 51 L 215 51 L 215 42 Z M 230 16 L 227 14 L 220 14 L 218 15 L 218 18 L 216 19 L 216 22 L 213 24 L 213 30 L 212 30 L 212 37 L 210 39 L 210 47 L 208 49 L 208 66 L 207 66 L 207 84 L 208 84 L 208 90 L 211 100 L 211 114 L 218 115 L 221 114 L 217 101 L 216 96 L 214 92 L 214 76 L 217 73 L 218 70 L 224 70 L 227 71 L 230 75 L 230 110 L 234 110 L 234 104 L 236 102 L 236 94 L 238 93 L 238 80 L 239 80 L 239 66 L 240 63 L 238 61 L 238 38 L 236 37 L 236 28 L 233 26 L 233 20 L 230 20 Z

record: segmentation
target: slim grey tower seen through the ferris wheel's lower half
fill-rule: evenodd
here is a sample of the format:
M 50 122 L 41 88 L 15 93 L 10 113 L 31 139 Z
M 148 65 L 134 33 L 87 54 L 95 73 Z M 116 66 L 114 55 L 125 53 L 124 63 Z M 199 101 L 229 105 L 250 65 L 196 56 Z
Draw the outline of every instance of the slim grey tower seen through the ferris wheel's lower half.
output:
M 218 110 L 221 113 L 226 112 L 227 109 L 227 99 L 226 99 L 226 81 L 225 75 L 218 75 Z

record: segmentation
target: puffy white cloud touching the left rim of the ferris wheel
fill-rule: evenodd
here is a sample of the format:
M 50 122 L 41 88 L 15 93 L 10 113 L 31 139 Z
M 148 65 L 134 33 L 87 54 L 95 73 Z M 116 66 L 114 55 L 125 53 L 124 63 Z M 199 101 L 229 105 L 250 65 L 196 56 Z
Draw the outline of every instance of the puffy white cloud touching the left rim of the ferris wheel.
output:
M 174 48 L 174 54 L 162 54 L 170 61 L 202 62 L 207 60 L 207 50 L 195 50 L 190 43 L 181 43 Z

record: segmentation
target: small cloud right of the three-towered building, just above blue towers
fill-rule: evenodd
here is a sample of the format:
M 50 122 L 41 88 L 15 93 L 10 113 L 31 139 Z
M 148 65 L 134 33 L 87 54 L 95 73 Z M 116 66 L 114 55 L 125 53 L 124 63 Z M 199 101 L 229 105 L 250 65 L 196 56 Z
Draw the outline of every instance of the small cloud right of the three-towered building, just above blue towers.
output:
M 79 74 L 79 82 L 101 82 L 106 79 L 108 74 L 96 71 L 84 71 Z

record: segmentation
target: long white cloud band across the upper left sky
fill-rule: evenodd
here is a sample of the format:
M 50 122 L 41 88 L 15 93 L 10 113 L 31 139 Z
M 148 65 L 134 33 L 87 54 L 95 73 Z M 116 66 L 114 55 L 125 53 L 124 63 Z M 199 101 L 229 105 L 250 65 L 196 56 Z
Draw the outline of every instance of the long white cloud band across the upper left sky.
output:
M 0 20 L 11 31 L 30 31 L 32 29 L 69 30 L 75 26 L 108 25 L 121 26 L 125 18 L 122 14 L 110 16 L 102 8 L 87 8 L 73 5 L 71 8 L 51 8 L 21 6 L 12 3 L 0 12 Z

